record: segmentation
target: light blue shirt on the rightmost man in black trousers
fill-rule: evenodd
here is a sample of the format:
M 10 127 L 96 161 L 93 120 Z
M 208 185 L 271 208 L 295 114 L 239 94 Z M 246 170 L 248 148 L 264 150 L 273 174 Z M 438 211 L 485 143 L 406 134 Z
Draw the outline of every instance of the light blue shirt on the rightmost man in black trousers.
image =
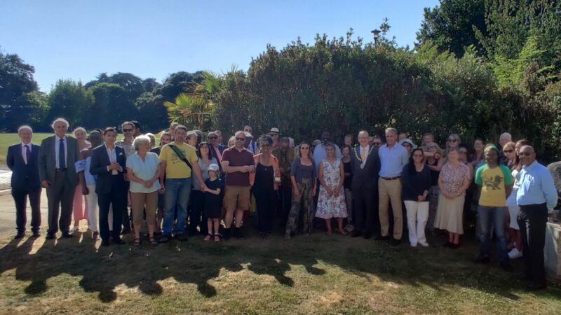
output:
M 523 166 L 519 176 L 516 204 L 547 204 L 550 210 L 557 205 L 557 188 L 547 167 L 534 161 L 531 165 Z

